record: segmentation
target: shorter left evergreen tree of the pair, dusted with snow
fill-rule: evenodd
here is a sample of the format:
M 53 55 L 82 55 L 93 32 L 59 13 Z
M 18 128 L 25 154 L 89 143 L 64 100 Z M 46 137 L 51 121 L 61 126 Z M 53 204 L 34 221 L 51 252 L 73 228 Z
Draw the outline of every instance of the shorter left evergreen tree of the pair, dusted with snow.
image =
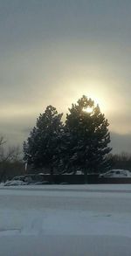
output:
M 27 142 L 24 142 L 24 160 L 36 169 L 49 168 L 51 174 L 59 159 L 59 135 L 63 128 L 61 117 L 55 107 L 46 107 Z

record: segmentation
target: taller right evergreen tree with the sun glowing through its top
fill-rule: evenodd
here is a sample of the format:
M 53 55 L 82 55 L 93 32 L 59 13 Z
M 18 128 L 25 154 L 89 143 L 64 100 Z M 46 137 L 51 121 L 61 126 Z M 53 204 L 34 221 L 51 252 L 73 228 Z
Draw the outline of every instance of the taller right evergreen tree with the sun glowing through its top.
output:
M 107 169 L 107 154 L 111 149 L 108 122 L 100 107 L 94 101 L 83 96 L 78 104 L 72 104 L 66 115 L 68 130 L 68 148 L 70 165 L 81 169 L 85 176 L 88 173 L 99 173 Z

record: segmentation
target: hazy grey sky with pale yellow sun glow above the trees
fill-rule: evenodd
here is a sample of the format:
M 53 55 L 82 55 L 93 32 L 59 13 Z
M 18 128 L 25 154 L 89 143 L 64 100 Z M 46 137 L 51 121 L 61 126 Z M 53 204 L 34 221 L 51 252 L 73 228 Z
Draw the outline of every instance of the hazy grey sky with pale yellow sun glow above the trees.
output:
M 130 24 L 130 0 L 0 0 L 0 134 L 22 145 L 45 107 L 85 94 L 131 153 Z

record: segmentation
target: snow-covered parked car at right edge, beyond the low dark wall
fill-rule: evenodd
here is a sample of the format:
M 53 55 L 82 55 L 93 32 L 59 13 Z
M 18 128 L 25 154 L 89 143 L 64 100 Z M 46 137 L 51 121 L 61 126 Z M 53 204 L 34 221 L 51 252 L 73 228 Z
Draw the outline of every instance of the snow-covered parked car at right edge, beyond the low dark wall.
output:
M 129 170 L 109 170 L 106 173 L 100 174 L 100 177 L 131 177 L 131 172 Z

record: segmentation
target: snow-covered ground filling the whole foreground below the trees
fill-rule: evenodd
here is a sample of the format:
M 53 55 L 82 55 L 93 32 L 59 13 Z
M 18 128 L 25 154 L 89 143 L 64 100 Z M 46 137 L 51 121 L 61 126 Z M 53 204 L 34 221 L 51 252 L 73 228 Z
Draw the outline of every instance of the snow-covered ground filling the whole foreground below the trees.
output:
M 0 255 L 130 256 L 131 184 L 0 186 Z

